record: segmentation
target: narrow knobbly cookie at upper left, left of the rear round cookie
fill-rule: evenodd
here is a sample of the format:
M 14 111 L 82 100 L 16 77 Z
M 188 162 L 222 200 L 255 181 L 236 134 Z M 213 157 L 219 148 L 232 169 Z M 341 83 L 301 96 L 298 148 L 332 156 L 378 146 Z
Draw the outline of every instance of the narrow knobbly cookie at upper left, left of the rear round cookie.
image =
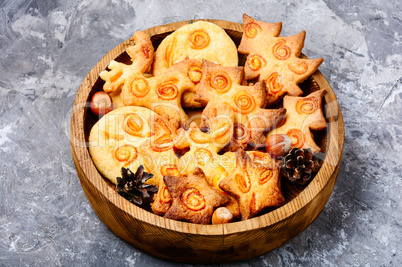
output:
M 114 108 L 124 106 L 120 96 L 122 86 L 131 77 L 148 72 L 154 59 L 154 47 L 148 34 L 137 31 L 133 39 L 135 44 L 126 48 L 132 63 L 127 65 L 112 60 L 108 70 L 99 74 L 99 77 L 105 81 L 103 90 L 112 97 Z

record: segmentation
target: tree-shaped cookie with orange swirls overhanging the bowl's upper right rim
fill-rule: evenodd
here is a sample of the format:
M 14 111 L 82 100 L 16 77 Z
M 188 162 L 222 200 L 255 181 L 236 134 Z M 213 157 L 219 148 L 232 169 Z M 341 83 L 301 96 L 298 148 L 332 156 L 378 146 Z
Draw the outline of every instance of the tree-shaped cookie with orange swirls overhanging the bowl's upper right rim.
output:
M 304 46 L 305 31 L 289 37 L 279 37 L 282 24 L 258 21 L 243 15 L 244 33 L 239 53 L 247 55 L 245 79 L 258 78 L 267 86 L 267 105 L 278 102 L 284 94 L 299 96 L 297 86 L 313 74 L 322 58 L 299 58 Z

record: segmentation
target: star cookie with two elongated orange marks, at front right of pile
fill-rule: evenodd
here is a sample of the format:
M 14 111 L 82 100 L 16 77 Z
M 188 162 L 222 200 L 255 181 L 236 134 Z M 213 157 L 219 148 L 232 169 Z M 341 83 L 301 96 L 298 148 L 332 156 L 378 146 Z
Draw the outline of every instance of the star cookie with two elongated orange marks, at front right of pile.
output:
M 247 153 L 236 151 L 236 169 L 219 182 L 219 187 L 234 196 L 240 205 L 241 219 L 246 220 L 268 207 L 285 203 L 275 165 L 253 163 Z

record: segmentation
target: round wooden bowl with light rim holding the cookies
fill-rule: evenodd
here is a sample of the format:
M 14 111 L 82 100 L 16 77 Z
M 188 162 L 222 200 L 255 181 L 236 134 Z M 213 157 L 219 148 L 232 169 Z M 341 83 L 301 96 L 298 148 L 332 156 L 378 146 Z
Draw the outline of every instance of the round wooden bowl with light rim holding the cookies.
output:
M 243 25 L 222 20 L 213 22 L 239 45 Z M 145 30 L 155 48 L 182 21 Z M 342 158 L 344 125 L 336 96 L 324 76 L 316 71 L 300 86 L 306 92 L 325 88 L 324 113 L 328 128 L 315 133 L 324 153 L 323 164 L 308 186 L 283 183 L 287 203 L 259 217 L 224 225 L 198 225 L 165 219 L 131 204 L 115 186 L 97 171 L 88 152 L 88 136 L 96 118 L 89 102 L 102 90 L 99 73 L 113 59 L 127 61 L 128 39 L 111 50 L 89 72 L 78 89 L 71 114 L 70 141 L 74 163 L 82 188 L 99 218 L 117 236 L 135 248 L 160 259 L 186 263 L 223 263 L 250 259 L 267 253 L 289 241 L 309 226 L 324 208 L 334 188 Z M 244 63 L 244 56 L 240 55 Z

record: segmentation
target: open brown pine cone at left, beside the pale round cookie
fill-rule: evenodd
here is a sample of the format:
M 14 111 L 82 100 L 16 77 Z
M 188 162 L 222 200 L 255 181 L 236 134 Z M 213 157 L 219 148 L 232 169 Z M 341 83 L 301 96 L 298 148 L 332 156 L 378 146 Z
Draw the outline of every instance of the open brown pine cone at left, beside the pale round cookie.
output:
M 145 198 L 151 197 L 152 193 L 158 191 L 156 186 L 145 183 L 154 175 L 145 172 L 142 165 L 138 167 L 135 174 L 130 169 L 122 167 L 121 176 L 117 177 L 117 193 L 131 203 L 142 205 Z

